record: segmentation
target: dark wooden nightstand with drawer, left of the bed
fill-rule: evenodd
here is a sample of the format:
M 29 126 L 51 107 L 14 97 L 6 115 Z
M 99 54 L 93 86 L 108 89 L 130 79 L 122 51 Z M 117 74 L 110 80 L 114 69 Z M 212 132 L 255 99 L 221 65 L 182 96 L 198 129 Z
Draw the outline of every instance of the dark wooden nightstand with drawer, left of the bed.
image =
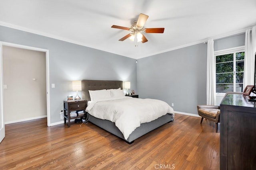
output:
M 66 120 L 68 119 L 68 127 L 70 127 L 70 118 L 79 118 L 83 117 L 84 114 L 80 114 L 78 116 L 70 116 L 71 111 L 85 110 L 87 107 L 87 100 L 65 100 L 64 101 L 64 123 L 66 124 Z

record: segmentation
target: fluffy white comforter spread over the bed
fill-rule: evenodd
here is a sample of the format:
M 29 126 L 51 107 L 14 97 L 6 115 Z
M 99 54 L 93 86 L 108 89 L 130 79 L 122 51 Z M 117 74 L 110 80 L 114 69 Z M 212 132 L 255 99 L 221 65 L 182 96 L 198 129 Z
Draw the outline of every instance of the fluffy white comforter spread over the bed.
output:
M 161 100 L 127 96 L 92 101 L 86 111 L 99 119 L 114 122 L 125 139 L 128 139 L 141 123 L 153 121 L 166 113 L 174 114 L 172 107 Z

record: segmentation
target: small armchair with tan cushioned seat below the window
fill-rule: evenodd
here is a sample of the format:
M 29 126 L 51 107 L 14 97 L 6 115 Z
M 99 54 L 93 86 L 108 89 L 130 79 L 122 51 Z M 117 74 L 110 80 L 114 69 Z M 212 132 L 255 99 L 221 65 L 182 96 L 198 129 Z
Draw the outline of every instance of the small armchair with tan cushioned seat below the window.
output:
M 220 106 L 198 105 L 198 115 L 200 115 L 202 124 L 203 119 L 215 122 L 215 131 L 218 132 L 218 123 L 220 122 Z

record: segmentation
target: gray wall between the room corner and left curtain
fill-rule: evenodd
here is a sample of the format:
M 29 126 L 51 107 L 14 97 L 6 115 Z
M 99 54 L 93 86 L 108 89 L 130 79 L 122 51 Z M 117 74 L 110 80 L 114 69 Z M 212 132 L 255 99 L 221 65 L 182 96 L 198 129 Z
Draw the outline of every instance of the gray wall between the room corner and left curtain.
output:
M 197 114 L 206 104 L 207 44 L 200 43 L 138 60 L 140 98 L 174 103 L 174 111 Z

